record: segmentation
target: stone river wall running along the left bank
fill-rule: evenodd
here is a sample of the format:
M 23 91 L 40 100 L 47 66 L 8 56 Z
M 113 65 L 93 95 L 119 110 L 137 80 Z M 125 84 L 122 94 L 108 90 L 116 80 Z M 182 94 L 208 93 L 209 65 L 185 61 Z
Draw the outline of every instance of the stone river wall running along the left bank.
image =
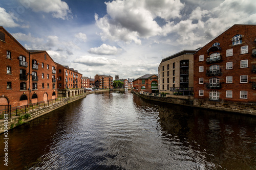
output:
M 87 91 L 86 93 L 75 96 L 73 98 L 65 98 L 65 99 L 62 99 L 61 102 L 53 103 L 49 106 L 41 107 L 37 110 L 28 111 L 27 113 L 29 113 L 31 117 L 28 118 L 28 119 L 22 119 L 22 122 L 27 123 L 27 122 L 35 119 L 35 118 L 38 118 L 38 117 L 40 117 L 42 115 L 45 115 L 45 114 L 48 114 L 51 111 L 56 110 L 56 109 L 58 109 L 62 106 L 65 106 L 65 105 L 67 105 L 71 102 L 74 102 L 74 101 L 80 100 L 82 98 L 85 98 L 88 94 L 102 92 L 102 91 L 108 91 L 108 90 Z M 9 119 L 6 119 L 6 120 L 1 119 L 0 120 L 0 134 L 4 133 L 5 130 L 10 130 L 10 129 L 13 129 L 15 127 L 18 127 L 18 126 L 16 126 L 16 124 L 18 124 L 18 122 L 20 121 L 19 120 L 20 116 L 24 116 L 24 115 L 25 114 L 19 115 L 19 116 L 12 116 L 12 118 L 9 118 Z M 8 122 L 7 122 L 7 120 L 8 120 Z

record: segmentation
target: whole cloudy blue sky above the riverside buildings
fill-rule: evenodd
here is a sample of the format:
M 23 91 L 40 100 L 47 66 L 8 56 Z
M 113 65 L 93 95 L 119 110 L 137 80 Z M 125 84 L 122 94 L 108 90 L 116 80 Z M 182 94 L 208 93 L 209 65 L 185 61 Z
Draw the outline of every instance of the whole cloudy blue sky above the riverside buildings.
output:
M 157 74 L 234 24 L 256 24 L 255 0 L 1 0 L 0 26 L 83 76 Z

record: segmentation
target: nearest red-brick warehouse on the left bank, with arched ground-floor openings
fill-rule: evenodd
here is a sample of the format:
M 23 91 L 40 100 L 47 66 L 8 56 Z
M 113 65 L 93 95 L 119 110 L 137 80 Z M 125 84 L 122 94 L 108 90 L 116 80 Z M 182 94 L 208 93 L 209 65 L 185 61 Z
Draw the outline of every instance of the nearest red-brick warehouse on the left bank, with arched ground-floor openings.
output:
M 56 68 L 56 64 L 46 51 L 26 50 L 0 27 L 0 55 L 0 105 L 16 107 L 56 98 L 57 91 L 52 80 L 52 69 Z M 42 74 L 45 74 L 45 80 Z

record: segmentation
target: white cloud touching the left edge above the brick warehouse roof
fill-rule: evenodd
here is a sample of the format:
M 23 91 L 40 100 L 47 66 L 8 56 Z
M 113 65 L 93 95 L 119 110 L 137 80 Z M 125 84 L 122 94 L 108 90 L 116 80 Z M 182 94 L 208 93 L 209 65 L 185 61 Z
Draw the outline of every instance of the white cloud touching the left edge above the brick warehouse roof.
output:
M 4 8 L 0 7 L 0 26 L 3 27 L 18 27 L 19 24 L 14 20 L 17 20 L 12 13 L 7 13 Z

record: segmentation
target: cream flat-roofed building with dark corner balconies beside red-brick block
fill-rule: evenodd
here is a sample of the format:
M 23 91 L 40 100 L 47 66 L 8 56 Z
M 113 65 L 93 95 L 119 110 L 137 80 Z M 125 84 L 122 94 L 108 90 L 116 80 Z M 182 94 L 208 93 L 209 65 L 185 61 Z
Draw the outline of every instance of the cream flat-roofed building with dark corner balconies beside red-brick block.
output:
M 197 51 L 184 50 L 162 59 L 158 66 L 158 89 L 160 93 L 193 95 L 193 54 Z

